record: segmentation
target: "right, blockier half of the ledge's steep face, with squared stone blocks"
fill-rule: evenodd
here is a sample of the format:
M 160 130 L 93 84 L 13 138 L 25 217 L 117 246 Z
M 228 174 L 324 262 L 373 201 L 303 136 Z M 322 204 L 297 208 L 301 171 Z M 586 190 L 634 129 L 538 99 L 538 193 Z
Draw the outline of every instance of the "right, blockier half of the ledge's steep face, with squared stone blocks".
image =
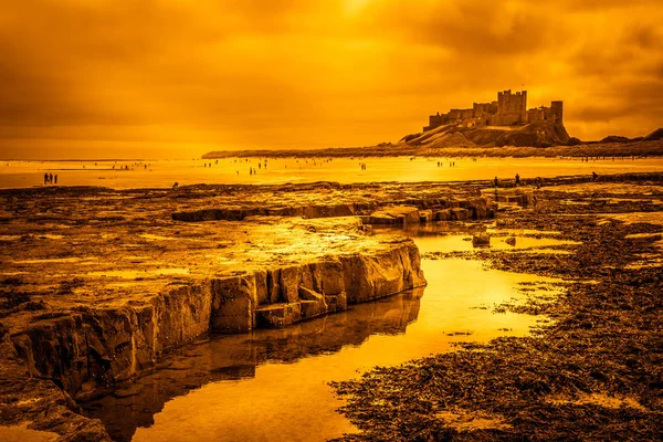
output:
M 214 280 L 211 328 L 285 327 L 422 285 L 419 251 L 409 242 L 375 255 L 340 255 Z

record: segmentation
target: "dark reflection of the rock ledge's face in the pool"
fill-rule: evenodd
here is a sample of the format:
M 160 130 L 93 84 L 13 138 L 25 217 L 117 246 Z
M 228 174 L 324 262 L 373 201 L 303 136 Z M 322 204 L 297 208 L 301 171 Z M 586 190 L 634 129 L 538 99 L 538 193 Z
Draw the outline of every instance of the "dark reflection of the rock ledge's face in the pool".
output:
M 281 330 L 198 341 L 173 351 L 154 375 L 85 403 L 85 412 L 102 419 L 113 439 L 128 441 L 138 427 L 155 422 L 155 413 L 167 401 L 202 385 L 253 378 L 259 365 L 292 364 L 303 357 L 359 346 L 371 335 L 404 333 L 419 315 L 422 294 L 423 288 L 406 292 Z

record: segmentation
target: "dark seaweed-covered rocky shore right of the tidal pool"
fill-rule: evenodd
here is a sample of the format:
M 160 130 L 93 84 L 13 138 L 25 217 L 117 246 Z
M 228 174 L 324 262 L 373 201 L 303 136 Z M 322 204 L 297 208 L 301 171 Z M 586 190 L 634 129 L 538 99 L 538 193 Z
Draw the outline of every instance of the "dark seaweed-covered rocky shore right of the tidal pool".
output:
M 552 320 L 532 337 L 463 345 L 336 383 L 349 400 L 341 412 L 362 430 L 345 439 L 662 440 L 662 197 L 660 181 L 570 183 L 544 188 L 530 209 L 499 212 L 498 228 L 579 242 L 558 254 L 472 254 L 496 269 L 565 278 L 560 297 L 495 309 Z

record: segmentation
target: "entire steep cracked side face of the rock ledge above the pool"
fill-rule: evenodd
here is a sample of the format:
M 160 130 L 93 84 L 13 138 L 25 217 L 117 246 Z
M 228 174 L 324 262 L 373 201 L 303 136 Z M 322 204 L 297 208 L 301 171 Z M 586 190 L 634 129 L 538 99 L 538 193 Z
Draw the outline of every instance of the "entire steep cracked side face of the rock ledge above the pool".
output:
M 422 285 L 417 246 L 393 240 L 375 254 L 175 285 L 120 307 L 80 307 L 40 319 L 11 340 L 33 377 L 86 397 L 154 367 L 162 351 L 208 330 L 284 327 Z

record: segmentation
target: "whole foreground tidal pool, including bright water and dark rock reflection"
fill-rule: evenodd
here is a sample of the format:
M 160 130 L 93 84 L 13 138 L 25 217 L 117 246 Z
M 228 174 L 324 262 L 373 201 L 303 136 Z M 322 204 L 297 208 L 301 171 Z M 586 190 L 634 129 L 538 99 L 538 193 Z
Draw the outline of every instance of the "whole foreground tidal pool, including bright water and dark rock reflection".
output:
M 415 236 L 446 251 L 444 236 Z M 422 242 L 425 242 L 423 244 Z M 152 375 L 84 404 L 123 441 L 320 441 L 356 431 L 327 382 L 451 351 L 457 341 L 523 336 L 540 318 L 492 312 L 556 280 L 486 270 L 472 260 L 422 260 L 417 290 L 282 330 L 187 346 Z

